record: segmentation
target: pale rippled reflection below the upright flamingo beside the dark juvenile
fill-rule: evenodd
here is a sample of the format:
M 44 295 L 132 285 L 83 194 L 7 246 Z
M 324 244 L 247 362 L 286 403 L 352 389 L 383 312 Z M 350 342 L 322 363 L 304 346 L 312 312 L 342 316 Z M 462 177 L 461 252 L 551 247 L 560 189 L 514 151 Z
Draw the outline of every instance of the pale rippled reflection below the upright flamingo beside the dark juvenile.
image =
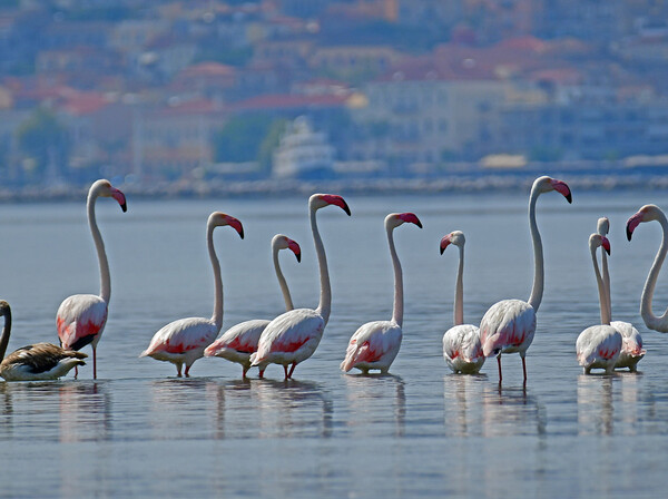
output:
M 61 442 L 111 439 L 111 395 L 105 382 L 59 383 Z

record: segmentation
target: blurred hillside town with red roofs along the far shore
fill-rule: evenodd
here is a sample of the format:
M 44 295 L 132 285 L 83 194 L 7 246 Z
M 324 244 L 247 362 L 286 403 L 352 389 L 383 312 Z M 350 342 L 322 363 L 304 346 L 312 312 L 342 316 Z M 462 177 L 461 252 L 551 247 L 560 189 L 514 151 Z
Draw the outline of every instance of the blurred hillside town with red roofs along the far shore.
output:
M 11 186 L 668 167 L 660 0 L 2 0 Z

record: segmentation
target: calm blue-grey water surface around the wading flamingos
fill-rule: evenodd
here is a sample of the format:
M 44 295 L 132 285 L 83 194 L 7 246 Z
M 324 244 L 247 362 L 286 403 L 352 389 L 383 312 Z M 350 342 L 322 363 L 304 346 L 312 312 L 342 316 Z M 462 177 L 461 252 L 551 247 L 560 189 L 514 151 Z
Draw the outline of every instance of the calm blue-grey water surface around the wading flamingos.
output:
M 441 337 L 452 323 L 458 262 L 454 250 L 439 255 L 444 234 L 464 231 L 468 322 L 479 323 L 500 299 L 527 299 L 525 193 L 347 197 L 351 218 L 336 208 L 320 212 L 333 312 L 315 355 L 289 382 L 279 366 L 269 366 L 266 380 L 243 382 L 240 366 L 220 359 L 202 359 L 193 378 L 176 379 L 171 364 L 137 356 L 167 322 L 210 315 L 205 225 L 215 209 L 246 231 L 240 241 L 216 229 L 224 329 L 282 311 L 269 256 L 278 232 L 303 248 L 301 264 L 282 254 L 294 302 L 315 306 L 305 198 L 129 199 L 127 214 L 100 199 L 112 296 L 99 380 L 89 365 L 79 380 L 0 382 L 0 496 L 662 496 L 668 336 L 649 332 L 638 313 L 660 227 L 642 224 L 628 243 L 625 224 L 642 204 L 668 202 L 657 193 L 573 197 L 573 205 L 557 194 L 539 202 L 546 293 L 525 390 L 518 355 L 504 356 L 501 389 L 493 360 L 479 376 L 446 370 Z M 402 350 L 392 375 L 342 374 L 355 329 L 391 315 L 383 218 L 397 211 L 415 212 L 424 224 L 395 232 L 405 276 Z M 583 376 L 574 356 L 580 331 L 599 321 L 587 242 L 602 215 L 611 221 L 613 316 L 635 323 L 648 350 L 637 374 Z M 60 301 L 98 291 L 84 204 L 3 205 L 0 231 L 0 295 L 14 315 L 10 351 L 57 342 Z M 656 312 L 668 303 L 665 283 Z

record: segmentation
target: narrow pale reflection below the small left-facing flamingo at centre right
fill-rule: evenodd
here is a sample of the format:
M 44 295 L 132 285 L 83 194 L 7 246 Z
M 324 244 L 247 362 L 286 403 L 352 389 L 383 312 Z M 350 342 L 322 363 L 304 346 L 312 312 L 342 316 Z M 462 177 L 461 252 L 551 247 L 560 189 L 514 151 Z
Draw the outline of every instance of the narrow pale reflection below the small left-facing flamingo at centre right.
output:
M 443 423 L 446 434 L 482 434 L 481 401 L 485 381 L 487 374 L 443 376 Z

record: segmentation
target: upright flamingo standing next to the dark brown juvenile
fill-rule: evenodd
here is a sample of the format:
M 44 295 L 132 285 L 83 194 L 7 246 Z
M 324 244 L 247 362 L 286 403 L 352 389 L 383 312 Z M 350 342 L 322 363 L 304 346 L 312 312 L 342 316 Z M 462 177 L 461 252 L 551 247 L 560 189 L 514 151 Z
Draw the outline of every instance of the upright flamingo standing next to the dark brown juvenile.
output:
M 88 190 L 86 208 L 88 211 L 88 225 L 92 234 L 92 241 L 98 254 L 100 266 L 100 294 L 75 294 L 65 299 L 58 307 L 56 325 L 60 345 L 67 350 L 81 350 L 90 343 L 92 346 L 92 379 L 97 379 L 97 344 L 102 336 L 109 299 L 111 296 L 111 277 L 109 275 L 109 262 L 105 252 L 105 243 L 95 218 L 95 202 L 98 197 L 112 197 L 118 202 L 120 208 L 127 212 L 125 194 L 114 187 L 109 180 L 95 182 Z M 75 372 L 77 372 L 75 368 Z

